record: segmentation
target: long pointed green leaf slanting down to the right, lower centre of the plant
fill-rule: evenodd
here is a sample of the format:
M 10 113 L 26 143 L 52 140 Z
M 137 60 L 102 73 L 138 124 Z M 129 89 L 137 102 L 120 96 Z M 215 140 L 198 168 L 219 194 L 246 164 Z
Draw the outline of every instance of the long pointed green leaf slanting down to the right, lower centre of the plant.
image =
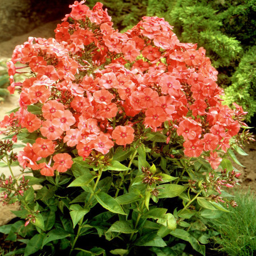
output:
M 103 206 L 105 209 L 109 210 L 110 212 L 127 215 L 124 212 L 123 208 L 121 208 L 121 205 L 115 200 L 115 198 L 109 196 L 109 194 L 100 192 L 98 194 L 95 194 L 95 198 L 101 206 Z

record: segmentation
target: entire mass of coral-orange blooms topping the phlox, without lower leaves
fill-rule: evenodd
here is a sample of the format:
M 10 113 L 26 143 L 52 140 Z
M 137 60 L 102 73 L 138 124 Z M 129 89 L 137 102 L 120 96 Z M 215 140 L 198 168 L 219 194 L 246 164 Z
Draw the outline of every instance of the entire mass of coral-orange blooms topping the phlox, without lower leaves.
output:
M 19 153 L 20 164 L 52 176 L 71 168 L 73 156 L 105 155 L 150 128 L 177 132 L 186 156 L 206 152 L 216 168 L 215 152 L 227 151 L 240 124 L 237 112 L 222 105 L 204 48 L 181 43 L 163 18 L 143 17 L 122 34 L 100 3 L 71 8 L 55 39 L 29 38 L 8 64 L 20 108 L 1 126 L 15 123 L 38 137 Z M 22 83 L 14 82 L 17 62 L 31 70 Z

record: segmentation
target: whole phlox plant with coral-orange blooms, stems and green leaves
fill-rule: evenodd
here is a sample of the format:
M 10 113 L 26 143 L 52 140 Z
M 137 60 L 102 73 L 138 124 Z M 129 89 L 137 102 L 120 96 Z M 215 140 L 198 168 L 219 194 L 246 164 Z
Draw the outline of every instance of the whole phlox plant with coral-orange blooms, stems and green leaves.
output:
M 29 38 L 8 63 L 20 107 L 1 121 L 0 158 L 22 177 L 1 192 L 21 220 L 0 231 L 27 238 L 25 255 L 205 255 L 208 220 L 236 205 L 223 189 L 251 140 L 245 112 L 222 105 L 204 48 L 163 18 L 121 34 L 101 3 L 70 7 L 55 39 Z

